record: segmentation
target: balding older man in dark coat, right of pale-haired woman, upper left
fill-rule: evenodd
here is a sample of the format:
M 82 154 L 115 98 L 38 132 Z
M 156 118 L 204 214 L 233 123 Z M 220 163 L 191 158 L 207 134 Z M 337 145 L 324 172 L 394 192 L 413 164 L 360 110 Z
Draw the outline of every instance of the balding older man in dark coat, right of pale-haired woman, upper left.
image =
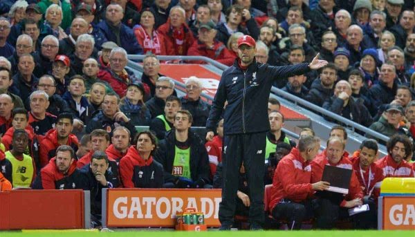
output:
M 77 17 L 73 19 L 68 37 L 59 40 L 59 55 L 72 55 L 75 52 L 75 42 L 80 35 L 88 33 L 89 23 Z

